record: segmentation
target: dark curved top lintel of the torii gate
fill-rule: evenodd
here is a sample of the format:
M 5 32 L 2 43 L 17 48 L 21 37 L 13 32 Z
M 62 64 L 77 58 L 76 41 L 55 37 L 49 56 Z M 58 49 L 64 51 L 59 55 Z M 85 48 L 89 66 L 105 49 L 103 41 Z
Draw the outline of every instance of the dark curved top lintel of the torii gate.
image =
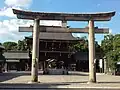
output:
M 40 19 L 40 20 L 61 20 L 61 21 L 109 21 L 115 12 L 99 13 L 55 13 L 55 12 L 31 12 L 13 9 L 18 19 Z

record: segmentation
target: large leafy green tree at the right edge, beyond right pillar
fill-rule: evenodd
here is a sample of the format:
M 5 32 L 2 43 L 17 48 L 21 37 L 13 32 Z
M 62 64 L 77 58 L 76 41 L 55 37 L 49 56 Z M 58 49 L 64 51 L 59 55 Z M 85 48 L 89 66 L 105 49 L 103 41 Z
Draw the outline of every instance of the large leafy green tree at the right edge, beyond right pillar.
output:
M 120 61 L 120 34 L 106 35 L 102 41 L 101 48 L 106 57 L 107 69 L 115 71 L 117 62 Z

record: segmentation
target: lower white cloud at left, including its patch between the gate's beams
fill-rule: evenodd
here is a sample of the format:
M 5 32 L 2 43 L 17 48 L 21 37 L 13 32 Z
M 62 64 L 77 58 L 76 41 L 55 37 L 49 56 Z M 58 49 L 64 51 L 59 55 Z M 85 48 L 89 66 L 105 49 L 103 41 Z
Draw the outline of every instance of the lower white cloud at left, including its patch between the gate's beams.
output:
M 61 26 L 61 21 L 46 21 L 42 20 L 41 25 L 47 26 Z M 10 19 L 0 21 L 0 39 L 2 41 L 18 41 L 23 39 L 25 36 L 29 36 L 28 33 L 21 33 L 18 31 L 19 26 L 33 25 L 32 20 L 21 20 L 21 19 Z

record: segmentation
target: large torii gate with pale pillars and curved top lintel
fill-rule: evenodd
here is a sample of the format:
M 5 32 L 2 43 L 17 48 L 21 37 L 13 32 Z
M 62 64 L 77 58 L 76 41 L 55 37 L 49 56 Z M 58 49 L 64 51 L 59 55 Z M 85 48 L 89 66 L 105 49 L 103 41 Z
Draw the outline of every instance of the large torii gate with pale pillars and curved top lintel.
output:
M 33 27 L 33 51 L 32 51 L 32 82 L 38 82 L 38 48 L 39 48 L 39 30 L 42 32 L 87 32 L 89 34 L 89 82 L 96 82 L 96 71 L 95 71 L 95 40 L 94 34 L 97 32 L 108 32 L 108 29 L 96 29 L 94 27 L 94 21 L 110 21 L 111 17 L 115 15 L 115 12 L 107 13 L 92 13 L 92 14 L 72 14 L 72 13 L 45 13 L 45 12 L 30 12 L 13 9 L 13 13 L 17 14 L 18 19 L 29 19 L 34 20 Z M 40 27 L 40 20 L 61 20 L 63 22 L 63 28 L 57 27 L 58 31 L 54 30 L 55 27 Z M 88 28 L 71 28 L 67 29 L 67 21 L 88 21 Z M 22 28 L 23 29 L 23 28 Z M 27 29 L 27 28 L 26 28 Z M 32 31 L 32 28 L 30 28 Z M 43 29 L 43 30 L 42 30 Z M 53 29 L 53 31 L 52 31 Z M 96 30 L 95 30 L 96 29 Z M 62 30 L 62 31 L 61 31 Z M 70 31 L 69 31 L 70 30 Z M 79 31 L 82 30 L 82 31 Z M 98 31 L 100 30 L 100 31 Z

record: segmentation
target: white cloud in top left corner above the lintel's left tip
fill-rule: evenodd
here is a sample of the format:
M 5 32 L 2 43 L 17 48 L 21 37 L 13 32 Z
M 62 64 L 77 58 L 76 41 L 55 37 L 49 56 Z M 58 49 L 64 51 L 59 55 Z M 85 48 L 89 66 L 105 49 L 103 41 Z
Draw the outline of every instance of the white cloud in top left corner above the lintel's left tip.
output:
M 21 10 L 22 8 L 28 8 L 31 5 L 32 0 L 5 0 L 7 5 L 0 9 L 0 16 L 16 17 L 13 14 L 12 8 Z

